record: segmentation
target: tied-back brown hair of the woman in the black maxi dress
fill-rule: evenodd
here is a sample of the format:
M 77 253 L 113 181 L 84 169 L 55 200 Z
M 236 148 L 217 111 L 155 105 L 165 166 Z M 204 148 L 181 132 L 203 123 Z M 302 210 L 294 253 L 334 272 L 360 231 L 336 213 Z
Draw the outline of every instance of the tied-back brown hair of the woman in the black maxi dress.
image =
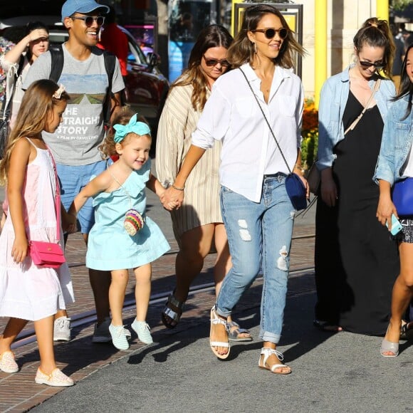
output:
M 365 45 L 385 48 L 385 67 L 382 70 L 388 78 L 392 78 L 396 46 L 394 46 L 392 32 L 386 20 L 379 20 L 377 17 L 367 19 L 357 33 L 355 33 L 353 43 L 357 53 Z

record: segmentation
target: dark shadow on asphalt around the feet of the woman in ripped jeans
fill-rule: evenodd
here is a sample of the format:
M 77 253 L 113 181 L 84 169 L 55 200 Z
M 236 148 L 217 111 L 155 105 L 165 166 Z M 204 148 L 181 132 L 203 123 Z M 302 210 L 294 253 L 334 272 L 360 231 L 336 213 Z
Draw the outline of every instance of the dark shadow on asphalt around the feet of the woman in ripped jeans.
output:
M 321 332 L 313 327 L 315 293 L 314 291 L 298 292 L 300 289 L 298 287 L 303 283 L 300 278 L 293 278 L 290 281 L 283 335 L 279 343 L 279 348 L 284 353 L 286 362 L 291 362 L 305 355 L 333 335 L 333 333 Z M 261 285 L 252 286 L 234 310 L 234 318 L 243 328 L 258 327 L 259 329 L 261 291 Z M 196 305 L 186 307 L 181 323 L 176 330 L 160 330 L 157 332 L 160 334 L 158 336 L 155 333 L 154 338 L 159 343 L 145 347 L 139 353 L 132 355 L 128 363 L 131 365 L 140 364 L 147 355 L 152 355 L 156 362 L 167 362 L 169 355 L 173 352 L 182 350 L 184 347 L 196 343 L 197 340 L 207 338 L 209 336 L 209 310 L 204 311 L 205 316 L 201 318 L 187 314 L 189 309 L 194 310 L 195 308 L 197 308 Z M 258 337 L 254 337 L 252 342 L 231 342 L 231 355 L 227 360 L 234 360 L 241 352 L 256 351 L 260 350 L 261 347 L 262 342 Z

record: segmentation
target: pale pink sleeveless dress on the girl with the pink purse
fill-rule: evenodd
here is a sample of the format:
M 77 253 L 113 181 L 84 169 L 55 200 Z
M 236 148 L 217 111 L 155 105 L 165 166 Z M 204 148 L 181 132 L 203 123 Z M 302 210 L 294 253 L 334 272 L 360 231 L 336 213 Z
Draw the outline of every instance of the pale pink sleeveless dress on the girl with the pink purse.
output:
M 37 147 L 36 150 L 36 159 L 28 164 L 23 185 L 26 234 L 29 241 L 56 241 L 53 164 L 47 150 Z M 56 270 L 37 267 L 30 257 L 16 264 L 11 256 L 13 243 L 14 228 L 9 213 L 0 235 L 1 317 L 41 320 L 74 302 L 67 263 Z M 61 243 L 63 245 L 62 231 Z

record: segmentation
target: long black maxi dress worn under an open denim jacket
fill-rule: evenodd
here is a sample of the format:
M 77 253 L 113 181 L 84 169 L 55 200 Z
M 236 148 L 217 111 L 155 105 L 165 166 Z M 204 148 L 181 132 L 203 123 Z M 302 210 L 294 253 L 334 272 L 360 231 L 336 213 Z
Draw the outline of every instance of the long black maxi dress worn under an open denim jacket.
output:
M 361 113 L 351 93 L 343 114 L 346 130 Z M 379 187 L 372 181 L 383 120 L 375 105 L 333 152 L 338 202 L 318 197 L 315 240 L 315 317 L 353 333 L 384 335 L 392 287 L 399 274 L 397 243 L 376 218 Z

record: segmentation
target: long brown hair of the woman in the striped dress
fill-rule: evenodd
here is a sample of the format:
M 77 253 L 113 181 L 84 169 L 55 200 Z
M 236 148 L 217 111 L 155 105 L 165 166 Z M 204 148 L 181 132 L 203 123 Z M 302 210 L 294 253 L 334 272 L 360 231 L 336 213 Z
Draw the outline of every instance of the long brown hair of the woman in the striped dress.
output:
M 194 47 L 192 48 L 191 55 L 189 56 L 188 68 L 184 70 L 184 73 L 175 81 L 172 88 L 177 86 L 192 85 L 194 90 L 192 91 L 192 107 L 194 110 L 203 110 L 206 103 L 206 88 L 208 82 L 204 73 L 201 70 L 201 60 L 204 53 L 213 47 L 229 48 L 233 41 L 231 34 L 226 30 L 224 26 L 219 24 L 211 24 L 206 26 L 197 38 Z

